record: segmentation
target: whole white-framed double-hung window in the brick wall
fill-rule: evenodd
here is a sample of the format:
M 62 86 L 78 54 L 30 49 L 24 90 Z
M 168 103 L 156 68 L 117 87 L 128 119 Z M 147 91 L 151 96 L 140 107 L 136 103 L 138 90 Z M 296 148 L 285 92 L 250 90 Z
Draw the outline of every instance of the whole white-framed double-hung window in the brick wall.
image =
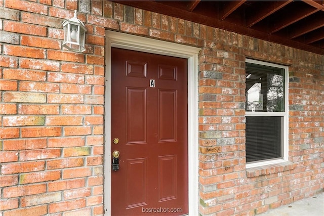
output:
M 247 167 L 287 160 L 287 90 L 287 66 L 247 59 Z

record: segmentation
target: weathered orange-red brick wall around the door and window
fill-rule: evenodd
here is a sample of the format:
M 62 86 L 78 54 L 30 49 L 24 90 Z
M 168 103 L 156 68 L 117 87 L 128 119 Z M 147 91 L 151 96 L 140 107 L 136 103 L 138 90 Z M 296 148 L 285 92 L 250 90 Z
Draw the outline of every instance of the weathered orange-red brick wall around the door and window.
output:
M 60 48 L 76 9 L 82 54 Z M 324 56 L 108 1 L 0 0 L 0 215 L 103 213 L 105 29 L 202 48 L 201 215 L 323 192 Z M 246 58 L 290 65 L 291 163 L 245 167 Z

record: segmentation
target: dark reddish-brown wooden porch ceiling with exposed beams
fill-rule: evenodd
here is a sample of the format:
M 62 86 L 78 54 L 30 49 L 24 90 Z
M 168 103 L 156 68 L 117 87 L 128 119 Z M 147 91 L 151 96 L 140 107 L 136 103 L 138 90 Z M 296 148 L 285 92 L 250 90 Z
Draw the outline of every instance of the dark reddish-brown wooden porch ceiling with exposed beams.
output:
M 324 55 L 324 1 L 113 1 Z

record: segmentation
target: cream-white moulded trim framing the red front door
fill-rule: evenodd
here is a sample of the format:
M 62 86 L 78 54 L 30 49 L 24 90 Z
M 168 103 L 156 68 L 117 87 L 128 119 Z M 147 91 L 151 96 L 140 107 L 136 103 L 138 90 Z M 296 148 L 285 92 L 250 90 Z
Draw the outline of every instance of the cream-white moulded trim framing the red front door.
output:
M 198 214 L 198 53 L 199 48 L 106 30 L 104 212 L 111 214 L 111 47 L 188 59 L 188 215 Z

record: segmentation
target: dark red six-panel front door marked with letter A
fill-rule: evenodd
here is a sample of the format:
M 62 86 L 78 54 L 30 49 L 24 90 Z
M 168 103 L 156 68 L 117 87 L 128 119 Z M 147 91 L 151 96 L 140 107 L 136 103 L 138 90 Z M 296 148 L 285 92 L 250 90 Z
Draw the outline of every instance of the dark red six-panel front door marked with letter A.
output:
M 187 60 L 111 50 L 112 215 L 188 213 Z

